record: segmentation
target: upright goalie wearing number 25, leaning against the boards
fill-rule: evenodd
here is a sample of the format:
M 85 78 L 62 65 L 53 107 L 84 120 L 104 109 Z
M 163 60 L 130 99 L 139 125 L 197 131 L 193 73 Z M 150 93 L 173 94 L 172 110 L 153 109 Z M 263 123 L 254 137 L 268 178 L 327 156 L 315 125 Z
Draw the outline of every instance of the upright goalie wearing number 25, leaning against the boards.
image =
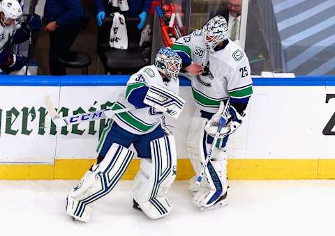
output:
M 192 92 L 198 107 L 188 134 L 188 155 L 196 173 L 190 189 L 196 191 L 193 203 L 201 210 L 227 204 L 227 141 L 242 123 L 249 97 L 253 93 L 251 71 L 244 51 L 228 39 L 228 24 L 218 15 L 188 36 L 179 38 L 172 49 L 181 56 L 182 70 L 191 74 Z M 228 102 L 229 101 L 229 102 Z M 224 104 L 228 122 L 218 132 Z M 221 106 L 220 106 L 221 105 Z M 207 154 L 211 158 L 204 165 Z M 195 184 L 204 168 L 200 187 Z

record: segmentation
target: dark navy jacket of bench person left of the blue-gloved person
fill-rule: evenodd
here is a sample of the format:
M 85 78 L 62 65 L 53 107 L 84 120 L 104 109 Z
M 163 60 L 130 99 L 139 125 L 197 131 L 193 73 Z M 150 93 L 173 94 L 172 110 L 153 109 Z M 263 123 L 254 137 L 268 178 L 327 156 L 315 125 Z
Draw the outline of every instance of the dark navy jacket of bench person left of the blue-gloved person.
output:
M 58 27 L 80 22 L 83 16 L 81 0 L 47 0 L 45 3 L 45 20 L 56 21 Z

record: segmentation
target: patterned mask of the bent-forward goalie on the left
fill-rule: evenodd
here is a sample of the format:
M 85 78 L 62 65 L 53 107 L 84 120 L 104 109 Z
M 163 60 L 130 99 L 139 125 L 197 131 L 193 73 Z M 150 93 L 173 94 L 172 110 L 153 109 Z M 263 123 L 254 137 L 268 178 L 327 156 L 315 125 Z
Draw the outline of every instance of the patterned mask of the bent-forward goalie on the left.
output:
M 155 65 L 157 70 L 169 80 L 178 79 L 179 70 L 181 69 L 181 58 L 177 52 L 167 47 L 161 47 L 156 55 Z

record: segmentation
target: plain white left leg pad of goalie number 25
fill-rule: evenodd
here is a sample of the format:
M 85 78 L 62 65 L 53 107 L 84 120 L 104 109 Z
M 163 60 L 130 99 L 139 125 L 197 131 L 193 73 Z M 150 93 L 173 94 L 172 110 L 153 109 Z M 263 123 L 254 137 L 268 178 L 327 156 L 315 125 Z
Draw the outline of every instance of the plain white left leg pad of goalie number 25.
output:
M 199 191 L 200 187 L 195 184 L 198 175 L 200 174 L 202 163 L 204 162 L 204 150 L 202 147 L 202 140 L 204 138 L 204 127 L 207 123 L 206 118 L 193 117 L 191 120 L 190 131 L 188 132 L 187 150 L 188 157 L 195 175 L 190 180 L 188 189 L 191 191 Z

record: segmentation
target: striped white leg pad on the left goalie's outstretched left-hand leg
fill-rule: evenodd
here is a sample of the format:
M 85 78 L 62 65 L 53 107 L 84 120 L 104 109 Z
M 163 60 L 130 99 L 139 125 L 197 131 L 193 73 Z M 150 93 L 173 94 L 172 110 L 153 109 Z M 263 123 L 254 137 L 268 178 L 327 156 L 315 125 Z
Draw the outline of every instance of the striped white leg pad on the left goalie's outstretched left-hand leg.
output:
M 108 194 L 126 171 L 134 152 L 113 143 L 103 161 L 87 171 L 66 198 L 66 214 L 80 221 L 89 221 L 92 203 Z

